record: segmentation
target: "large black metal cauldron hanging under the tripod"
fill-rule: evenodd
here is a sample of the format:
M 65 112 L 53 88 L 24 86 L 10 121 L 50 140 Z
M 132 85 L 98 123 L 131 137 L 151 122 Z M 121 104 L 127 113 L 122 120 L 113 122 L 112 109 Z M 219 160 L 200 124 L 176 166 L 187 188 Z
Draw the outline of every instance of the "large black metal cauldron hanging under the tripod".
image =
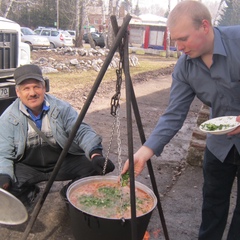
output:
M 131 240 L 131 219 L 110 219 L 90 215 L 83 209 L 76 208 L 70 201 L 71 192 L 92 181 L 118 181 L 116 176 L 93 176 L 82 178 L 72 183 L 67 190 L 71 227 L 76 240 Z M 136 218 L 137 240 L 142 240 L 150 221 L 152 211 L 156 207 L 157 198 L 153 191 L 145 185 L 135 182 L 141 189 L 153 198 L 153 207 L 146 214 Z

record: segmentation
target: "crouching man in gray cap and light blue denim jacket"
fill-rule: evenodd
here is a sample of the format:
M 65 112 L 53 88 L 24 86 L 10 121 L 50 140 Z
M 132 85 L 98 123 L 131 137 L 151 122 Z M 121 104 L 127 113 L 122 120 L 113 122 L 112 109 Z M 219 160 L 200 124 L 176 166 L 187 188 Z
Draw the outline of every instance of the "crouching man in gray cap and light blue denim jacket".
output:
M 67 102 L 46 94 L 38 66 L 17 68 L 14 79 L 18 98 L 0 117 L 0 187 L 26 205 L 39 192 L 36 184 L 49 179 L 78 114 Z M 82 122 L 55 180 L 103 174 L 101 141 Z M 105 173 L 113 170 L 108 160 Z M 64 199 L 67 186 L 60 191 Z

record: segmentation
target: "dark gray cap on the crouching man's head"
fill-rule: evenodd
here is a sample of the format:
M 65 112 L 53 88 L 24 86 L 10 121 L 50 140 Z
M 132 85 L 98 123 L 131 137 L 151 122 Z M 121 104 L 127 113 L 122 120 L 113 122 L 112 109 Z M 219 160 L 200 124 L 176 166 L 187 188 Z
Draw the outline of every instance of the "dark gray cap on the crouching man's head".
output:
M 35 79 L 40 82 L 44 82 L 41 69 L 37 65 L 27 64 L 18 67 L 14 72 L 14 79 L 16 85 L 21 84 L 27 79 Z

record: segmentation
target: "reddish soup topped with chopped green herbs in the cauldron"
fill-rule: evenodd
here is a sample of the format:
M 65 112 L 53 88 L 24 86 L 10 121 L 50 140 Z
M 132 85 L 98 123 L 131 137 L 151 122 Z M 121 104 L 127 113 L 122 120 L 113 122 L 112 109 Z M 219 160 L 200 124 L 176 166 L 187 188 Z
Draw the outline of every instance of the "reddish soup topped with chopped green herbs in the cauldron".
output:
M 135 188 L 136 216 L 144 215 L 154 206 L 154 199 L 140 188 Z M 103 218 L 131 218 L 130 187 L 118 182 L 91 181 L 81 185 L 69 196 L 76 208 Z

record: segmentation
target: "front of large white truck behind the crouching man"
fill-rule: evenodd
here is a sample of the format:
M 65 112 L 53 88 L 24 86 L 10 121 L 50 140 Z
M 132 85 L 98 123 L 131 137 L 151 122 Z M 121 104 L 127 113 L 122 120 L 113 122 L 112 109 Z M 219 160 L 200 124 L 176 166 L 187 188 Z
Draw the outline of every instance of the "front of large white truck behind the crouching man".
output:
M 21 42 L 20 25 L 0 17 L 0 115 L 17 98 L 13 73 L 30 63 L 30 47 Z

